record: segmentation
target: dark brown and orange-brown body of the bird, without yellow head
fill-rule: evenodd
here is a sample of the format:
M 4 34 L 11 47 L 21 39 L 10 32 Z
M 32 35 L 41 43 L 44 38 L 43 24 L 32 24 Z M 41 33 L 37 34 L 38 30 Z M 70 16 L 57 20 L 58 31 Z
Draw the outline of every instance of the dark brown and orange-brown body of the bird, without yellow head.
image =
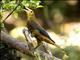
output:
M 28 27 L 29 32 L 37 39 L 39 43 L 41 41 L 45 41 L 47 43 L 54 45 L 55 42 L 50 38 L 48 33 L 36 21 L 29 20 L 27 22 L 27 27 Z

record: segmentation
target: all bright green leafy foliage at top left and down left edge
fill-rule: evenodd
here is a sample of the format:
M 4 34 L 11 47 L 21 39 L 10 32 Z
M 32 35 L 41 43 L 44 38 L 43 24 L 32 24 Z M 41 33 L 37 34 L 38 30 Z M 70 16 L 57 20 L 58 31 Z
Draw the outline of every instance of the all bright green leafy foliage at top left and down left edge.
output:
M 15 7 L 17 6 L 17 4 L 20 2 L 21 0 L 2 0 L 0 1 L 0 12 L 2 13 L 3 11 L 13 11 L 15 9 Z M 41 6 L 39 0 L 23 0 L 20 3 L 20 6 L 17 7 L 17 9 L 14 11 L 14 15 L 18 13 L 18 11 L 21 11 L 24 6 L 25 7 L 29 7 L 31 9 L 36 9 L 36 8 L 40 8 L 43 7 Z M 0 13 L 0 20 L 2 18 L 2 14 Z M 4 27 L 4 24 L 0 22 L 0 30 Z

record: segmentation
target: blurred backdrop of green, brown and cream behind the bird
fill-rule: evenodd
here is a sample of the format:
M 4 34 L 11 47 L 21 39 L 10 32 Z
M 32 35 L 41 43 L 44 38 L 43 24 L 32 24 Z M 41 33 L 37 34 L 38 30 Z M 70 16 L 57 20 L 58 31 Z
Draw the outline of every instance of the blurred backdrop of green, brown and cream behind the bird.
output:
M 3 20 L 18 2 L 19 0 L 0 1 L 0 19 Z M 25 42 L 22 30 L 26 28 L 27 20 L 23 5 L 34 11 L 36 21 L 68 53 L 69 58 L 63 60 L 80 60 L 80 0 L 23 0 L 4 24 L 9 34 L 21 42 Z M 61 56 L 57 48 L 52 52 Z

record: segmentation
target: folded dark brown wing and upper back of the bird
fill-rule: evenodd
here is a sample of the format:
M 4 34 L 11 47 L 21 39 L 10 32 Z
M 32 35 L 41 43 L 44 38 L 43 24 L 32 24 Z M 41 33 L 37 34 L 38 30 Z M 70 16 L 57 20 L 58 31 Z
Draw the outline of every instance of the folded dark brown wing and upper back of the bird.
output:
M 41 27 L 41 25 L 40 25 L 38 22 L 33 21 L 33 20 L 32 20 L 32 21 L 29 21 L 29 22 L 28 22 L 28 28 L 29 28 L 30 30 L 32 30 L 32 31 L 33 31 L 33 30 L 37 30 L 41 35 L 49 38 L 52 42 L 54 42 L 54 41 L 50 38 L 49 34 L 45 31 L 44 28 Z M 54 42 L 54 43 L 55 43 L 55 42 Z

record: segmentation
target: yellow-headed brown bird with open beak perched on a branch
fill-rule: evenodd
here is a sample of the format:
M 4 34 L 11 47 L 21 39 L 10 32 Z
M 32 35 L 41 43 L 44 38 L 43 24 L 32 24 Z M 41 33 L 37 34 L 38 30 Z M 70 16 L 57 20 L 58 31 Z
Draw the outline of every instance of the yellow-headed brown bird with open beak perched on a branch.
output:
M 37 19 L 33 10 L 25 8 L 25 11 L 27 12 L 28 32 L 32 35 L 32 37 L 36 38 L 38 46 L 40 46 L 41 42 L 44 41 L 61 49 L 61 47 L 58 46 L 53 39 L 51 39 L 46 30 L 36 21 Z

